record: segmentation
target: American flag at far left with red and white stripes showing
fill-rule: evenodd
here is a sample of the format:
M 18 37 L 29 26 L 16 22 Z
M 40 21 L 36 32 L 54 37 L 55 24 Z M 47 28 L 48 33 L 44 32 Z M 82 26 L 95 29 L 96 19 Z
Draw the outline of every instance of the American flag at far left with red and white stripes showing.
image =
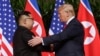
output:
M 10 0 L 0 0 L 0 56 L 13 56 L 12 36 L 15 29 Z

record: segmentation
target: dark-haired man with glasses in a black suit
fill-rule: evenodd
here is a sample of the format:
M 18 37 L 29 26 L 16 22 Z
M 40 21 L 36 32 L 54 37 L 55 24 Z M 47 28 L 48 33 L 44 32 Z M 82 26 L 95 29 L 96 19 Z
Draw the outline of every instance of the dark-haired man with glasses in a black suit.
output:
M 14 56 L 41 56 L 41 50 L 49 50 L 48 47 L 42 47 L 37 45 L 31 47 L 28 45 L 28 41 L 35 35 L 31 32 L 33 26 L 33 17 L 30 12 L 21 12 L 16 19 L 18 28 L 15 31 L 13 37 L 13 53 Z

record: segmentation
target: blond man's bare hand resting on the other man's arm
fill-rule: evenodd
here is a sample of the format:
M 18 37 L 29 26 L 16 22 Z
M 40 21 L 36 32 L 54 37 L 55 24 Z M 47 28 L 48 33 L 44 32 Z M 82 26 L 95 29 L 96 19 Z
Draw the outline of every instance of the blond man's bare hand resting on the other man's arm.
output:
M 42 42 L 43 42 L 42 37 L 36 36 L 28 41 L 28 45 L 34 47 L 38 44 L 41 44 Z

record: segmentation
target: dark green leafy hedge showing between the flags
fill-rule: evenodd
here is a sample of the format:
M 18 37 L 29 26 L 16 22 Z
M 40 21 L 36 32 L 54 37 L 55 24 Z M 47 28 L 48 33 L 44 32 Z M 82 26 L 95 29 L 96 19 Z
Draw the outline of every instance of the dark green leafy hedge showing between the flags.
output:
M 11 5 L 13 7 L 13 11 L 15 16 L 20 12 L 23 11 L 25 8 L 26 0 L 10 0 Z M 40 8 L 40 13 L 43 18 L 43 22 L 45 25 L 46 32 L 50 27 L 50 22 L 52 20 L 52 14 L 54 10 L 55 0 L 37 0 Z M 80 0 L 65 0 L 65 3 L 73 4 L 77 16 L 77 11 L 79 7 Z M 100 0 L 89 0 L 93 15 L 95 17 L 95 21 L 100 32 Z

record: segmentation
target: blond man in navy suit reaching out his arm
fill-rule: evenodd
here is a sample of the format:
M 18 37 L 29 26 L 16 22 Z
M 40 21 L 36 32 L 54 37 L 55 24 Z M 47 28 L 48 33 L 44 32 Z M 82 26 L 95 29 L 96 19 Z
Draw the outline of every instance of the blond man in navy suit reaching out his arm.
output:
M 45 38 L 33 38 L 28 44 L 35 46 L 54 44 L 56 56 L 84 56 L 84 30 L 81 23 L 75 18 L 74 8 L 71 4 L 64 4 L 58 8 L 61 22 L 66 23 L 65 29 L 56 35 Z

